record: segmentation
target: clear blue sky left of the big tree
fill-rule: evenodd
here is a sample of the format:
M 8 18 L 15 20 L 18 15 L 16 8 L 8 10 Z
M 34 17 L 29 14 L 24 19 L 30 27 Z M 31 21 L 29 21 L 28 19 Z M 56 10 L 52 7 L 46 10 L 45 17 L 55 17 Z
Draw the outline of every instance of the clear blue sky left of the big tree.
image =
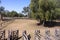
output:
M 29 6 L 30 0 L 1 0 L 1 6 L 5 7 L 5 10 L 15 10 L 21 12 L 24 6 Z

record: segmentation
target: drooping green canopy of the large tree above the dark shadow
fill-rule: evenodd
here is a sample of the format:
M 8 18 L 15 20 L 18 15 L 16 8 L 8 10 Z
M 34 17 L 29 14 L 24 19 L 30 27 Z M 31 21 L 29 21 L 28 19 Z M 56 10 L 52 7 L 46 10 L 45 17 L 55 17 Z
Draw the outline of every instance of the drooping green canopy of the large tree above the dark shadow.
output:
M 31 0 L 30 10 L 31 14 L 40 20 L 52 20 L 56 14 L 55 0 Z

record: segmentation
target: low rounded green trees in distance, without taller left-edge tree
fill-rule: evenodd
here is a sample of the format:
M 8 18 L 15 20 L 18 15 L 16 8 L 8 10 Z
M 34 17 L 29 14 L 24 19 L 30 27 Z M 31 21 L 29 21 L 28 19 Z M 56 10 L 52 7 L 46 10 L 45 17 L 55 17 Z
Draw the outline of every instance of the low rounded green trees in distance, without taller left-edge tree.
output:
M 24 14 L 22 14 L 22 13 L 17 13 L 16 11 L 11 11 L 11 12 L 6 12 L 6 11 L 4 11 L 3 13 L 2 13 L 2 15 L 4 16 L 4 17 L 24 17 Z

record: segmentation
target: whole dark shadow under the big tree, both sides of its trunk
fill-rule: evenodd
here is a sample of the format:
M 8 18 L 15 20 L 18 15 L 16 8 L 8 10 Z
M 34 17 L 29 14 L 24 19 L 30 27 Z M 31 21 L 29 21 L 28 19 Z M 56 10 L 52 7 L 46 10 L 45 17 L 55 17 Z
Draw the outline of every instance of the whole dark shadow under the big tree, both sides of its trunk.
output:
M 60 22 L 56 21 L 45 21 L 43 24 L 43 21 L 40 23 L 37 23 L 38 26 L 44 25 L 44 27 L 55 27 L 55 26 L 60 26 Z

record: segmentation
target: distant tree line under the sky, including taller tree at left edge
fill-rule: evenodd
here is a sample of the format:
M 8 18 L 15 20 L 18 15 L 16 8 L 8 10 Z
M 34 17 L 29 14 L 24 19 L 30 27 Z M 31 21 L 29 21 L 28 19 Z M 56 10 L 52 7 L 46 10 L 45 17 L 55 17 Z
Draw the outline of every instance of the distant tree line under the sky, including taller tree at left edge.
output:
M 8 10 L 4 10 L 4 7 L 0 7 L 0 12 L 2 14 L 2 16 L 4 17 L 25 17 L 26 15 L 22 14 L 22 13 L 18 13 L 16 11 L 8 11 Z

